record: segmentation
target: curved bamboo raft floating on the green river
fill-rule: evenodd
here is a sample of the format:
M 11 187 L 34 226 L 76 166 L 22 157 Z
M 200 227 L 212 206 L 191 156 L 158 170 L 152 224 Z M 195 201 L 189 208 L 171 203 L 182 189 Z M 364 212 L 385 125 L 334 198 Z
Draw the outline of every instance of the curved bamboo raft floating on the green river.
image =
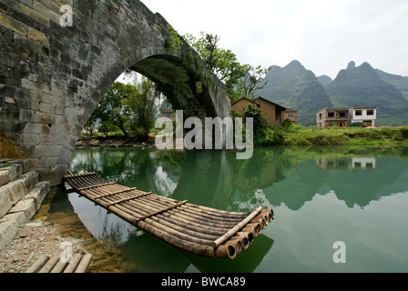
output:
M 96 173 L 68 174 L 66 182 L 76 193 L 199 256 L 234 259 L 275 218 L 272 209 L 258 207 L 247 213 L 217 210 L 117 185 Z

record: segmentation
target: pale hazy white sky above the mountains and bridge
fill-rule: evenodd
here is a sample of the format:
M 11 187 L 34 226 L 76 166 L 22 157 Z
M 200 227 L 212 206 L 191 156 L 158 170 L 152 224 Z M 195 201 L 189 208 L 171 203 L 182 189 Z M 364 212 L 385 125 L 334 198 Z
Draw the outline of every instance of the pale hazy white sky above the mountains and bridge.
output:
M 219 35 L 240 63 L 296 59 L 335 78 L 350 61 L 408 76 L 408 0 L 142 0 L 180 35 Z

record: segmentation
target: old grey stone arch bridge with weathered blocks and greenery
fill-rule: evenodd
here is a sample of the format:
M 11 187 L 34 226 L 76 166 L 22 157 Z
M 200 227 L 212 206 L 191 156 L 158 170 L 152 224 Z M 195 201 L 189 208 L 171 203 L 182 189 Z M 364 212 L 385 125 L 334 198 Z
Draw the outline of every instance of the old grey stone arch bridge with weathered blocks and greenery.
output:
M 129 68 L 185 118 L 230 116 L 225 86 L 169 35 L 138 0 L 0 0 L 0 158 L 29 157 L 60 183 L 87 118 Z

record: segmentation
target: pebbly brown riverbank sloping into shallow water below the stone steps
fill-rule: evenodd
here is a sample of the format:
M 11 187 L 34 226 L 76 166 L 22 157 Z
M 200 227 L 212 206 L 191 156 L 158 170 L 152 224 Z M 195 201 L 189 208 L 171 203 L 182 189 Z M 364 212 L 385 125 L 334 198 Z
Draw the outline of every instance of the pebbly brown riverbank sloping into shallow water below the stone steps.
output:
M 73 209 L 63 206 L 67 197 L 58 191 L 51 189 L 36 216 L 20 226 L 14 240 L 0 251 L 0 273 L 24 273 L 38 256 L 60 254 L 63 242 L 72 244 L 73 255 L 93 255 L 88 273 L 126 273 L 133 268 L 120 251 L 89 233 Z

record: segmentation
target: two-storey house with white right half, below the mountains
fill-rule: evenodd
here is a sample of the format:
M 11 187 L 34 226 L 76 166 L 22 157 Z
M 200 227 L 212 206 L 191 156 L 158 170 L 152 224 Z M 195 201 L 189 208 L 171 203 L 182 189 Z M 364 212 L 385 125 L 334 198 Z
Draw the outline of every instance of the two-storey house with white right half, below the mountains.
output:
M 377 119 L 376 107 L 345 107 L 324 108 L 316 114 L 317 126 L 328 128 L 331 126 L 374 126 Z

